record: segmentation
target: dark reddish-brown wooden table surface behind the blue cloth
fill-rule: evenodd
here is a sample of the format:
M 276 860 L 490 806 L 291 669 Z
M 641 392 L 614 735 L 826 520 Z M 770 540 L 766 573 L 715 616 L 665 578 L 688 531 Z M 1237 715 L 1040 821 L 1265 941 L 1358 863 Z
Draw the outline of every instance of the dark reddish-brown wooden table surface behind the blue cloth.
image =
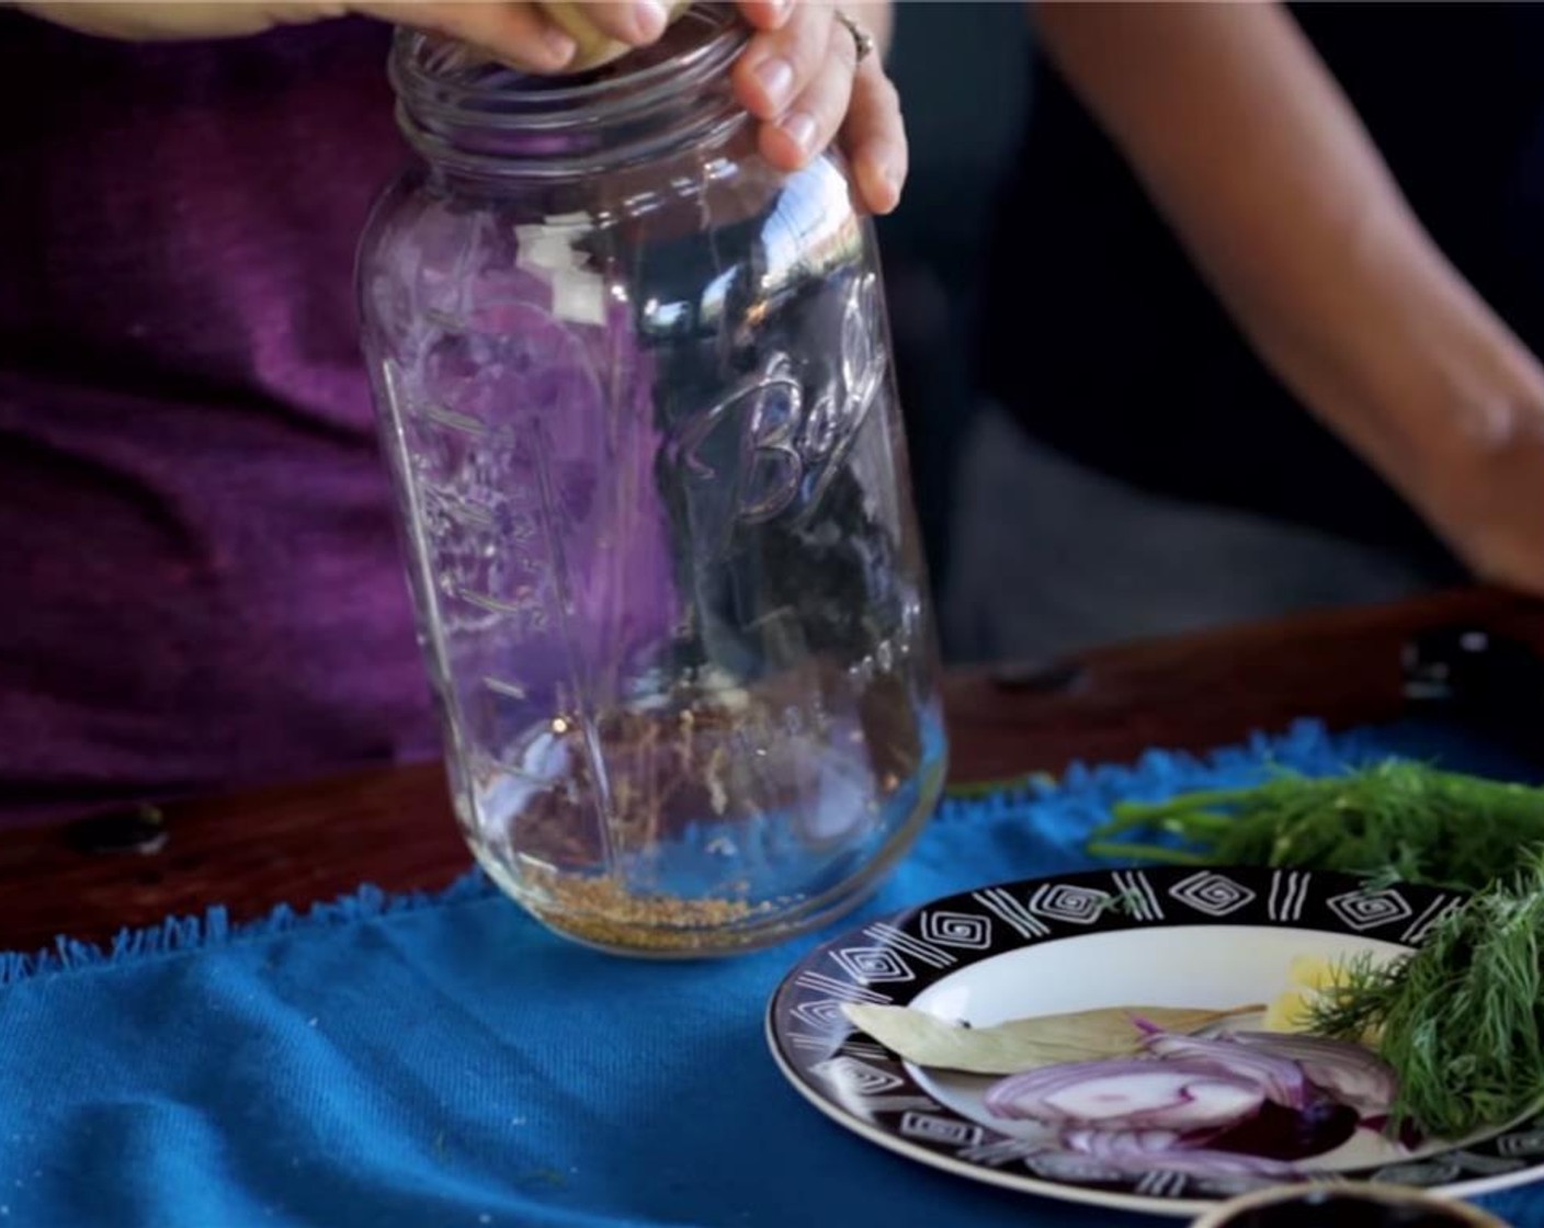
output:
M 1102 649 L 1042 669 L 956 672 L 946 683 L 951 780 L 1204 749 L 1295 717 L 1346 728 L 1400 714 L 1400 649 L 1414 632 L 1481 624 L 1544 650 L 1544 606 L 1492 590 L 1442 593 Z M 79 828 L 0 840 L 0 950 L 212 904 L 233 919 L 306 905 L 361 882 L 437 888 L 468 868 L 438 765 L 168 806 L 154 853 L 100 853 Z

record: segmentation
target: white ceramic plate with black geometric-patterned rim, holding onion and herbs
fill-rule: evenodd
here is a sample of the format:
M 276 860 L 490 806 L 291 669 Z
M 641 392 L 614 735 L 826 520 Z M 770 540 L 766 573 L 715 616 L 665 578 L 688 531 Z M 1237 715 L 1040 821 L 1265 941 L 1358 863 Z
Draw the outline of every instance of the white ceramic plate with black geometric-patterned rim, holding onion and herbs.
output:
M 1110 907 L 1113 902 L 1121 907 Z M 1459 896 L 1288 870 L 1126 870 L 1005 884 L 865 925 L 815 950 L 767 1015 L 772 1052 L 815 1108 L 913 1160 L 1047 1197 L 1194 1216 L 1258 1183 L 1118 1172 L 1047 1151 L 1044 1128 L 993 1117 L 991 1080 L 920 1069 L 854 1030 L 843 1002 L 911 1006 L 976 1027 L 1110 1006 L 1269 1002 L 1302 955 L 1417 945 Z M 1373 1131 L 1303 1168 L 1476 1196 L 1544 1179 L 1544 1120 L 1396 1151 Z

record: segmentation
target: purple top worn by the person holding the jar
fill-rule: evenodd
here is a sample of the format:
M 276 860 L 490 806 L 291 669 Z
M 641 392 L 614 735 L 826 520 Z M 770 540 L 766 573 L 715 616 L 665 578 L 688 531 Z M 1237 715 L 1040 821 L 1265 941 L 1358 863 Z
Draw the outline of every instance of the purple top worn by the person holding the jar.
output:
M 0 822 L 434 752 L 352 297 L 388 42 L 0 12 Z

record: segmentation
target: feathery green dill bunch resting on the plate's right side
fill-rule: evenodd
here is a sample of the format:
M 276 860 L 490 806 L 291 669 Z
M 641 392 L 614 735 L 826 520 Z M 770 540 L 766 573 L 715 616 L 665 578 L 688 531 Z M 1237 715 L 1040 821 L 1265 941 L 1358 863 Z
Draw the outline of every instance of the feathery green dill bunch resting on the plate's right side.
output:
M 1374 1038 L 1399 1077 L 1396 1131 L 1462 1138 L 1544 1103 L 1544 853 L 1522 862 L 1411 955 L 1345 962 L 1311 1009 L 1315 1033 Z

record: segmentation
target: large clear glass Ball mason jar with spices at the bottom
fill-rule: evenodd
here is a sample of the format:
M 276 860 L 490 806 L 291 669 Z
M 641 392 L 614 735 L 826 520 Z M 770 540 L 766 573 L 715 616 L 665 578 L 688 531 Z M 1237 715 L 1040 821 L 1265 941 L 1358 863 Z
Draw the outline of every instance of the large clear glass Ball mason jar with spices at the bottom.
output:
M 857 902 L 945 738 L 883 292 L 783 176 L 746 32 L 536 79 L 414 32 L 364 349 L 460 825 L 571 938 L 716 953 Z

